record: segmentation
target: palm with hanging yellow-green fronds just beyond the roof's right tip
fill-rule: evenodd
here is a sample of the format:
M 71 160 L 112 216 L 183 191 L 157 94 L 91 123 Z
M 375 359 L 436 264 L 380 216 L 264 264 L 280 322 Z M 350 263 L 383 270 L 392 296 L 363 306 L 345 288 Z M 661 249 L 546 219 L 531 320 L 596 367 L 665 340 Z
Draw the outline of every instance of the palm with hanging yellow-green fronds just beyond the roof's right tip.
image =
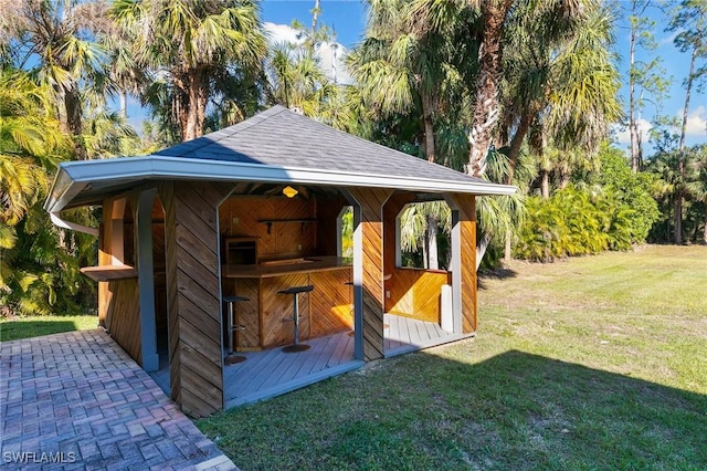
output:
M 547 17 L 552 14 L 534 8 L 509 25 L 502 96 L 503 126 L 514 132 L 509 184 L 529 132 L 537 155 L 547 140 L 567 151 L 592 154 L 621 116 L 609 10 L 587 2 L 573 21 L 550 28 Z

